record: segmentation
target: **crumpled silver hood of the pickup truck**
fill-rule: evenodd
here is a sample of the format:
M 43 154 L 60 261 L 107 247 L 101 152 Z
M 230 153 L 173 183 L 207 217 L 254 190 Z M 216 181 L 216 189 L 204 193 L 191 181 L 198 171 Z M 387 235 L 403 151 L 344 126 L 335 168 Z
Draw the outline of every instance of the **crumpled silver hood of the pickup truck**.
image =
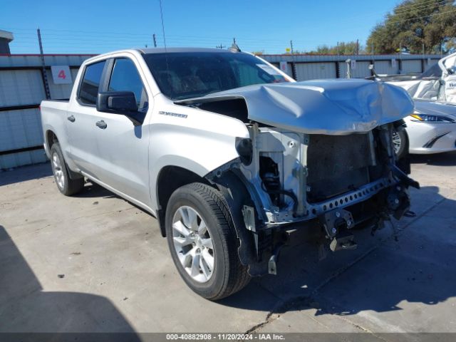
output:
M 259 84 L 177 103 L 229 98 L 245 99 L 249 120 L 309 134 L 366 133 L 413 113 L 402 88 L 361 79 Z

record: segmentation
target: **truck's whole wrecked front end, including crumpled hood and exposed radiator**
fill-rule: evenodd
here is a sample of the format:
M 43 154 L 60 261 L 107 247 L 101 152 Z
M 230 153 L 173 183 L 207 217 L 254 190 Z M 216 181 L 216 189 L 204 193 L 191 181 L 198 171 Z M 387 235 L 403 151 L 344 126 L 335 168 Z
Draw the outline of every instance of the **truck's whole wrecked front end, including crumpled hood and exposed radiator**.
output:
M 402 217 L 410 207 L 408 187 L 418 187 L 401 171 L 410 173 L 410 164 L 396 160 L 393 149 L 393 127 L 413 113 L 413 101 L 398 87 L 306 81 L 175 104 L 247 128 L 232 138 L 237 157 L 204 179 L 227 199 L 239 257 L 252 276 L 275 274 L 281 247 L 298 232 L 318 232 L 325 250 L 356 248 L 353 227 L 374 232 L 390 216 Z

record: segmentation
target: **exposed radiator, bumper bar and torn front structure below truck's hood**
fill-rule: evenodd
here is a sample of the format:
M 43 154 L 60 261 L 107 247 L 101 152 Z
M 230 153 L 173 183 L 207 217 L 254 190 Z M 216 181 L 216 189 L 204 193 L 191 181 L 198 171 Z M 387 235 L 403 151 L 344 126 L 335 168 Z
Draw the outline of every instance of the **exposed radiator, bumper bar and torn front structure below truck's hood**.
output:
M 318 232 L 324 256 L 326 250 L 356 248 L 353 227 L 375 232 L 391 216 L 400 219 L 410 209 L 408 187 L 419 185 L 396 166 L 393 123 L 344 136 L 308 135 L 258 123 L 247 128 L 250 138 L 236 141 L 239 157 L 205 178 L 227 199 L 239 257 L 252 276 L 276 274 L 279 252 L 296 243 L 296 232 Z M 353 153 L 361 150 L 364 155 L 357 160 Z M 335 184 L 321 186 L 330 178 Z

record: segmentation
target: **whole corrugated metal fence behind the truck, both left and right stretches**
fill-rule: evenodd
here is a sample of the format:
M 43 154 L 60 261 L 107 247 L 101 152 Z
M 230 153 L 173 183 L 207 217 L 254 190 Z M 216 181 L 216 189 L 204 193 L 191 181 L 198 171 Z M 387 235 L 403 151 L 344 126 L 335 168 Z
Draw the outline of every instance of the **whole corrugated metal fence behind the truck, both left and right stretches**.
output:
M 43 133 L 38 106 L 46 98 L 45 79 L 51 99 L 68 98 L 73 83 L 55 84 L 51 66 L 69 66 L 72 80 L 81 63 L 93 55 L 0 56 L 0 170 L 46 161 L 43 153 Z M 436 55 L 390 56 L 308 56 L 263 55 L 276 66 L 286 66 L 286 72 L 297 81 L 315 78 L 345 78 L 346 59 L 356 61 L 351 76 L 371 76 L 369 64 L 377 73 L 421 73 L 436 63 Z

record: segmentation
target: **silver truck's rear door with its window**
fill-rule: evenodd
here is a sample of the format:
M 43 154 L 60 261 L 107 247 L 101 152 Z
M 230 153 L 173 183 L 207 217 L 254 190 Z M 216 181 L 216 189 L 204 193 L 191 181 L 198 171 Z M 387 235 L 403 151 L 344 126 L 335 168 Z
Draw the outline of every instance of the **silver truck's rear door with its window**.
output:
M 76 100 L 70 100 L 66 117 L 70 157 L 81 171 L 95 179 L 100 172 L 97 162 L 100 152 L 96 142 L 98 130 L 95 126 L 98 112 L 95 103 L 106 66 L 106 61 L 98 61 L 85 67 Z

